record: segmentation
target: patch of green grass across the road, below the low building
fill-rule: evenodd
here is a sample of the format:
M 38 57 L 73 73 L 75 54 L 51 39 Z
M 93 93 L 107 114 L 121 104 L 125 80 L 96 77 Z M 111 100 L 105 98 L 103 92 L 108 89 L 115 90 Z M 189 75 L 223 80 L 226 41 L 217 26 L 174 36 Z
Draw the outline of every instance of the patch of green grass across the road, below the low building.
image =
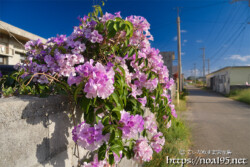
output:
M 231 99 L 250 104 L 250 88 L 232 90 L 229 97 Z

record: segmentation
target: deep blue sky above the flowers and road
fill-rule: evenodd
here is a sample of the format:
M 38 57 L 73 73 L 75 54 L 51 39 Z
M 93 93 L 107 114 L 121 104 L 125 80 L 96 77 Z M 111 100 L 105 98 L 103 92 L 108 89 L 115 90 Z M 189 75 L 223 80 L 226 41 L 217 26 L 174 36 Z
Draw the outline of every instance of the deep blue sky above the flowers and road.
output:
M 248 0 L 107 0 L 104 12 L 120 11 L 145 17 L 154 36 L 152 47 L 174 51 L 177 65 L 177 10 L 181 19 L 181 60 L 185 77 L 226 66 L 250 66 L 250 7 Z M 0 20 L 43 38 L 70 35 L 100 0 L 0 0 Z

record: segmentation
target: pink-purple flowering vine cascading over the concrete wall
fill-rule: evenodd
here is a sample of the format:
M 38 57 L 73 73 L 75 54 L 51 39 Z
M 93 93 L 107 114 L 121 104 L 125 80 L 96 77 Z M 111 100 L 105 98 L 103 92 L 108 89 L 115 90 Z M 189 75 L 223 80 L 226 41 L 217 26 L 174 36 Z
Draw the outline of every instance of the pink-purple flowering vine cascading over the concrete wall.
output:
M 165 142 L 157 121 L 164 119 L 169 128 L 177 117 L 167 94 L 174 81 L 150 46 L 150 25 L 141 16 L 103 14 L 100 6 L 80 21 L 68 37 L 27 42 L 28 61 L 16 66 L 21 78 L 26 86 L 31 81 L 60 90 L 81 107 L 84 122 L 73 129 L 73 140 L 95 153 L 82 166 L 112 165 L 124 157 L 150 161 Z

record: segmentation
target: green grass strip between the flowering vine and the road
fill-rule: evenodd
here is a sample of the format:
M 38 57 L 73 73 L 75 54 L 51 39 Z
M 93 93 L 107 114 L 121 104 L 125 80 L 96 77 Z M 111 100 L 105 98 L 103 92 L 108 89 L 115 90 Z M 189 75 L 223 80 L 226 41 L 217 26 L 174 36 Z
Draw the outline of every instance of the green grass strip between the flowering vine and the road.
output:
M 184 91 L 183 91 L 184 92 Z M 176 106 L 177 114 L 187 109 L 186 107 L 186 95 L 188 92 L 185 90 L 183 96 L 180 96 L 180 103 Z M 172 120 L 172 126 L 167 129 L 163 122 L 159 124 L 159 130 L 163 133 L 166 142 L 160 153 L 154 153 L 153 159 L 150 162 L 144 163 L 144 167 L 179 167 L 180 164 L 167 164 L 166 157 L 169 158 L 186 158 L 187 155 L 180 154 L 181 150 L 188 150 L 190 145 L 190 132 L 184 121 L 181 118 Z

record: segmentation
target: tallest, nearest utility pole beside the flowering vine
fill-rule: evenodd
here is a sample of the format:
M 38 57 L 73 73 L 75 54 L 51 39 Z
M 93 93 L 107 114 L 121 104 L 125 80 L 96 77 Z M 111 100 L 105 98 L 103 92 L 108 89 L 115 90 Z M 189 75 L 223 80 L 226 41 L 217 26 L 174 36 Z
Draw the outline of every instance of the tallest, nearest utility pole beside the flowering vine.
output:
M 178 48 L 178 93 L 182 92 L 182 69 L 181 69 L 181 28 L 180 28 L 179 7 L 177 8 L 177 48 Z

